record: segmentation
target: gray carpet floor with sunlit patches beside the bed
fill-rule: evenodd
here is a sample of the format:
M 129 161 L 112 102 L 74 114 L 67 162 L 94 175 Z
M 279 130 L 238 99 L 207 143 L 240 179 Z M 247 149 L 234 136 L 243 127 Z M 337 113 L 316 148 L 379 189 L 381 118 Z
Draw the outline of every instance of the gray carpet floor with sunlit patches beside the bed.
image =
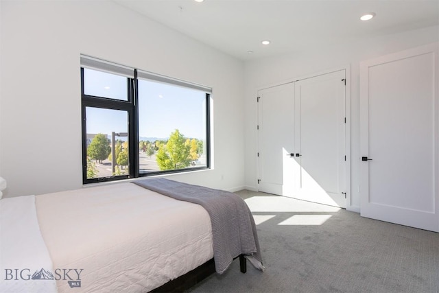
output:
M 439 233 L 292 198 L 238 191 L 265 272 L 233 261 L 189 292 L 439 292 Z M 260 224 L 258 224 L 260 223 Z

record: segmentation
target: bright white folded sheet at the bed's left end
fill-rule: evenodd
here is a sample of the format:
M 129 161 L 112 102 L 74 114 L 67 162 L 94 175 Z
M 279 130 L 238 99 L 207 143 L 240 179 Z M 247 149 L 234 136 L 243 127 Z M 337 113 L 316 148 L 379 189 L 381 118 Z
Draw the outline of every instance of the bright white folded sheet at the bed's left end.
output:
M 35 211 L 35 196 L 0 200 L 0 292 L 56 292 L 54 272 Z M 38 279 L 35 279 L 38 278 Z

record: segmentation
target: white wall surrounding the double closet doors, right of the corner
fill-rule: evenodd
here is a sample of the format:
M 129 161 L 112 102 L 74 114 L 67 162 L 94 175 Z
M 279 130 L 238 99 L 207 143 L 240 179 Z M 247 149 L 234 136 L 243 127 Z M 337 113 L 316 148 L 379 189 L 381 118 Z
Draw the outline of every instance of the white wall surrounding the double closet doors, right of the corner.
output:
M 330 69 L 351 69 L 351 198 L 348 209 L 359 211 L 359 62 L 439 40 L 439 27 L 427 27 L 349 43 L 246 62 L 246 188 L 257 189 L 257 89 Z

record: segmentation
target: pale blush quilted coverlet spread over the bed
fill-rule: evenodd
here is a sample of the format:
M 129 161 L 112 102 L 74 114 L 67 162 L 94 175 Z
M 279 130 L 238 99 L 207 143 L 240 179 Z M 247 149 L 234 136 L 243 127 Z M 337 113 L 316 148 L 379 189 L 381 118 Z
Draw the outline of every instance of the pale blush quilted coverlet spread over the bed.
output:
M 213 257 L 200 205 L 131 183 L 36 196 L 36 211 L 60 293 L 148 292 Z

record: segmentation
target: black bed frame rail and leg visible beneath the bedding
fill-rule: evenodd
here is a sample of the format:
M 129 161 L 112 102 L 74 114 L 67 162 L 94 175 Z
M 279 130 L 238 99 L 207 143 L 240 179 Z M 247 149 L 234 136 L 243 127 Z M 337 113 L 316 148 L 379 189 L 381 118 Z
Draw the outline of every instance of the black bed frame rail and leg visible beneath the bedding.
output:
M 235 259 L 236 258 L 237 257 L 235 257 Z M 244 255 L 239 255 L 239 270 L 241 270 L 241 272 L 244 274 L 247 272 L 247 261 Z M 196 283 L 200 283 L 214 272 L 215 261 L 210 259 L 198 268 L 194 268 L 190 272 L 187 272 L 177 279 L 171 280 L 150 292 L 183 292 L 191 288 Z

